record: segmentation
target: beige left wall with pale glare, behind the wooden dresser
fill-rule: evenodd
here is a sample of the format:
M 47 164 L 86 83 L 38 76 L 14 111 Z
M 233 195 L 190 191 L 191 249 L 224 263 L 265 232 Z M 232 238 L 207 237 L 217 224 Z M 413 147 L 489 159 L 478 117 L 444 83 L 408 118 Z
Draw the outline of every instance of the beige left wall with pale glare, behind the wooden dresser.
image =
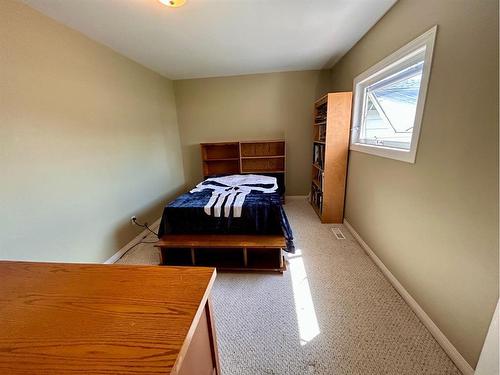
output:
M 184 185 L 172 82 L 0 1 L 0 259 L 101 262 Z

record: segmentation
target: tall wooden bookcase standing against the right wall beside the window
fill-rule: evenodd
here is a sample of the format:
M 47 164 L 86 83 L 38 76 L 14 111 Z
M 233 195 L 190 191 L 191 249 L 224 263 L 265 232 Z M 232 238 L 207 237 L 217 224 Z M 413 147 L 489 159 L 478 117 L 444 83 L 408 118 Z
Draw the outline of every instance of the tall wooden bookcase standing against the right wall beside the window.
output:
M 351 92 L 330 93 L 314 103 L 310 202 L 323 223 L 342 223 Z

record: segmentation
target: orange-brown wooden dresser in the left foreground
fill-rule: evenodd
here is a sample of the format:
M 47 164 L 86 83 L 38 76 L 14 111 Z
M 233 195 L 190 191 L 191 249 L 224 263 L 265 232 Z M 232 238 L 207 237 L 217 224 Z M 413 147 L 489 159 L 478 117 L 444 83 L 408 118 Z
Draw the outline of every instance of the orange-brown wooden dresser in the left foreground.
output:
M 220 374 L 213 268 L 0 262 L 1 374 Z

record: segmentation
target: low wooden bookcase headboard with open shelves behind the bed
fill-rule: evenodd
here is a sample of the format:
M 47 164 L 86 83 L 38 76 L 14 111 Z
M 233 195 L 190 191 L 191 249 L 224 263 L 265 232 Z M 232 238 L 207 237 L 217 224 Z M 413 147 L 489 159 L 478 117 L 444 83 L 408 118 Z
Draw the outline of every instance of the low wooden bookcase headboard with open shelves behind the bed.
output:
M 283 140 L 201 143 L 203 176 L 285 173 Z

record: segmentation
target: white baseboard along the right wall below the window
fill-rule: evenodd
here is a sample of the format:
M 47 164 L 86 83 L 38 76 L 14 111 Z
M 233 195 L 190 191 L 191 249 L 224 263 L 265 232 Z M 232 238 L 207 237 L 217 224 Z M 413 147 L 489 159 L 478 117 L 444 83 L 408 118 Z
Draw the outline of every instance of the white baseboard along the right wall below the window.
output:
M 406 303 L 411 307 L 413 312 L 418 316 L 420 321 L 427 327 L 427 329 L 431 332 L 432 336 L 436 339 L 436 341 L 441 345 L 443 350 L 448 354 L 450 359 L 455 363 L 455 366 L 464 374 L 464 375 L 473 375 L 474 369 L 469 365 L 469 363 L 465 360 L 464 357 L 459 353 L 457 348 L 453 346 L 453 344 L 448 340 L 445 334 L 439 329 L 439 327 L 432 321 L 432 319 L 427 315 L 427 313 L 420 307 L 417 301 L 408 293 L 408 291 L 404 288 L 403 285 L 396 279 L 396 277 L 389 271 L 389 269 L 384 265 L 384 263 L 380 260 L 380 258 L 373 252 L 373 250 L 368 246 L 368 244 L 361 238 L 361 236 L 356 232 L 356 230 L 349 224 L 347 220 L 344 220 L 344 225 L 354 236 L 356 241 L 361 245 L 363 250 L 368 254 L 368 256 L 373 260 L 373 262 L 380 268 L 385 277 L 392 284 L 394 289 L 403 297 Z

